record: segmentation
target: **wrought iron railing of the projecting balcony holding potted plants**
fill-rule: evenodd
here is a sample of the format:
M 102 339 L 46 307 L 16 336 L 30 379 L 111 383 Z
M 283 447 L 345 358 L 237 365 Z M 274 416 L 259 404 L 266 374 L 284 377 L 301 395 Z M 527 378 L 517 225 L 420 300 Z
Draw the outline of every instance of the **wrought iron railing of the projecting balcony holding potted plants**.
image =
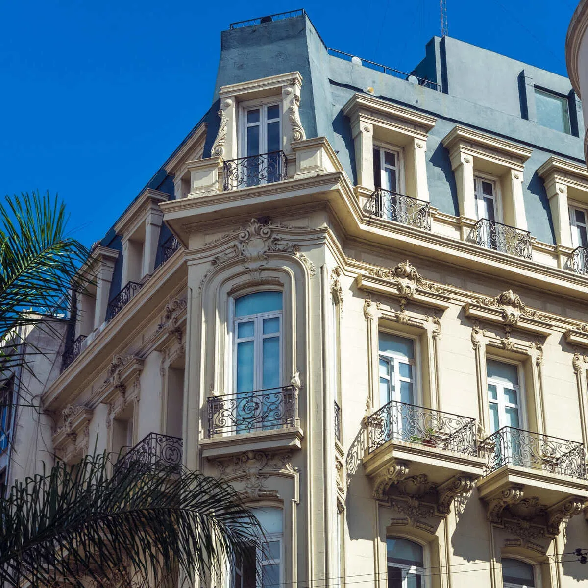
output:
M 476 419 L 392 402 L 368 417 L 368 453 L 390 440 L 477 455 Z

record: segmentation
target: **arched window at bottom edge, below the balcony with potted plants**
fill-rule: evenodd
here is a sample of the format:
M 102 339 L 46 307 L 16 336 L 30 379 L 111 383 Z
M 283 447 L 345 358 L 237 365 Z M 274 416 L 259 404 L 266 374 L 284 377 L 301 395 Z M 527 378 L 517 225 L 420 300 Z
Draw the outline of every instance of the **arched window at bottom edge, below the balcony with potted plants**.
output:
M 402 537 L 386 537 L 388 588 L 425 588 L 423 547 Z

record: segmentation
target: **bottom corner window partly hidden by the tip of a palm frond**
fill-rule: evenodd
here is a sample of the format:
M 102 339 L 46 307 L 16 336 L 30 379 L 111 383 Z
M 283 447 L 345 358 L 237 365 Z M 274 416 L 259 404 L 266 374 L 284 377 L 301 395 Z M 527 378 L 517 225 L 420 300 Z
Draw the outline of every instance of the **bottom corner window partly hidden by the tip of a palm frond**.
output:
M 245 555 L 235 558 L 232 588 L 279 588 L 283 583 L 282 510 L 263 507 L 251 512 L 259 520 L 265 540 L 258 546 L 246 546 Z

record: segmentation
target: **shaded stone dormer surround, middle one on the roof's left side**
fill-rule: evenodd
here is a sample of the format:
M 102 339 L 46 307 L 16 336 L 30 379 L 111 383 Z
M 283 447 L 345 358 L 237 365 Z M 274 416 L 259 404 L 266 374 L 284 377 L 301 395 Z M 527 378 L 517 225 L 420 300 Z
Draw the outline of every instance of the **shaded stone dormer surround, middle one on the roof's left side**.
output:
M 159 203 L 168 199 L 169 194 L 147 188 L 116 222 L 115 232 L 122 237 L 122 288 L 153 273 L 163 222 Z

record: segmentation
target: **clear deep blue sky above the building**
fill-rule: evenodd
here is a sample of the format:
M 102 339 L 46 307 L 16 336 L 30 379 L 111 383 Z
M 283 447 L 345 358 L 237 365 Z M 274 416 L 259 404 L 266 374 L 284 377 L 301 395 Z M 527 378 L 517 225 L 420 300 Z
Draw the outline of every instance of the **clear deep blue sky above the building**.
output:
M 439 0 L 296 2 L 2 2 L 0 194 L 58 192 L 102 238 L 209 108 L 230 22 L 306 8 L 327 45 L 403 71 L 440 34 Z M 449 34 L 567 75 L 576 4 L 447 0 Z

